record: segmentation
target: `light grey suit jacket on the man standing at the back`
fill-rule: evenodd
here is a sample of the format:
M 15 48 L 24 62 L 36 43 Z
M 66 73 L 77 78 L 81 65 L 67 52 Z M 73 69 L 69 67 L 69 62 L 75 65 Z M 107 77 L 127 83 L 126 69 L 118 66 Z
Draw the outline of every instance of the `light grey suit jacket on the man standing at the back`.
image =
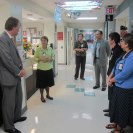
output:
M 94 42 L 94 51 L 93 51 L 93 64 L 94 65 L 96 61 L 96 44 L 97 44 L 97 41 Z M 108 42 L 104 39 L 100 40 L 99 60 L 100 60 L 101 66 L 106 66 L 108 64 L 109 55 L 110 55 L 110 46 Z

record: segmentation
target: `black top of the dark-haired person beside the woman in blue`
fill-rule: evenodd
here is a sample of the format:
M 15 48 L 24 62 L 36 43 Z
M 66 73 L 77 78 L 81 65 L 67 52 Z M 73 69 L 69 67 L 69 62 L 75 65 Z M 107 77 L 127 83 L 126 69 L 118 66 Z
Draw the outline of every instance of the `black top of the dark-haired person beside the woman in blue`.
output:
M 112 69 L 115 66 L 116 60 L 121 56 L 122 53 L 123 53 L 123 50 L 118 44 L 116 44 L 115 47 L 112 48 L 110 60 L 109 60 L 109 67 L 107 71 L 108 76 L 112 72 Z

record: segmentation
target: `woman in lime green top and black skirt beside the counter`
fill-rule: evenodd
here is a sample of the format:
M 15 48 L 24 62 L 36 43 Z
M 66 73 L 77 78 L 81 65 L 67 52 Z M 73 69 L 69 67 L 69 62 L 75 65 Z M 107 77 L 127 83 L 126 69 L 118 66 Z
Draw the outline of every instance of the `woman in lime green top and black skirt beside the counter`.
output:
M 46 102 L 43 92 L 46 90 L 46 97 L 53 100 L 49 95 L 49 87 L 54 85 L 53 60 L 54 53 L 51 47 L 48 47 L 48 38 L 41 37 L 41 46 L 35 51 L 35 60 L 37 61 L 37 79 L 36 87 L 40 88 L 41 101 Z

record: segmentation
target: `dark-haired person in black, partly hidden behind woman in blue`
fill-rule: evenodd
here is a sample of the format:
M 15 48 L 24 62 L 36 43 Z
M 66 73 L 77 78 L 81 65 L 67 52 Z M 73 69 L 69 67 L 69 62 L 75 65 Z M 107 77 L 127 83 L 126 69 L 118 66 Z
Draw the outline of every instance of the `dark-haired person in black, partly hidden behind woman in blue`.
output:
M 112 48 L 110 59 L 109 59 L 109 67 L 107 71 L 107 75 L 109 76 L 112 72 L 113 67 L 115 66 L 116 60 L 123 53 L 122 48 L 119 45 L 120 43 L 120 35 L 117 32 L 112 32 L 109 34 L 109 45 Z M 113 93 L 113 87 L 108 86 L 108 100 L 110 105 L 110 100 Z M 103 110 L 104 112 L 109 112 L 109 109 Z M 105 116 L 109 116 L 109 113 L 104 114 Z

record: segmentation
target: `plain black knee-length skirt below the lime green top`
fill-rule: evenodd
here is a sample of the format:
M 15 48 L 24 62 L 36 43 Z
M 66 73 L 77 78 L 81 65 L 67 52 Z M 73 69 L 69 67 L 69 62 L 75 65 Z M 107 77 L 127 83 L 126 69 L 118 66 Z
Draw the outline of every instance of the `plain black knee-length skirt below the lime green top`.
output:
M 46 88 L 54 85 L 53 70 L 37 70 L 36 73 L 36 88 Z

